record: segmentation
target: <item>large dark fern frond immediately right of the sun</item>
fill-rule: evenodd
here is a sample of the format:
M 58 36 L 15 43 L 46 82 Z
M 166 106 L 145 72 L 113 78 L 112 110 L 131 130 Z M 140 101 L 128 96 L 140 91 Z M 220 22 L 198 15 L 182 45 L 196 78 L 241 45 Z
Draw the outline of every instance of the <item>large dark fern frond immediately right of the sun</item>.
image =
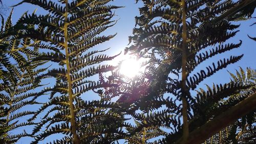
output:
M 251 89 L 255 83 L 244 85 L 231 81 L 212 88 L 207 86 L 207 90 L 200 88 L 197 96 L 191 94 L 206 78 L 243 57 L 222 58 L 197 70 L 209 58 L 240 47 L 242 41 L 226 42 L 238 32 L 239 25 L 232 21 L 251 18 L 255 2 L 185 1 L 183 8 L 181 2 L 184 1 L 143 0 L 144 7 L 140 8 L 140 16 L 135 18 L 138 27 L 129 38 L 134 44 L 126 48 L 126 53 L 146 58 L 143 63 L 145 73 L 131 82 L 122 82 L 118 73 L 113 74 L 114 79 L 110 78 L 119 85 L 111 89 L 110 95 L 121 94 L 119 102 L 129 109 L 127 114 L 135 122 L 140 122 L 140 127 L 127 126 L 134 132 L 132 137 L 141 136 L 147 128 L 157 127 L 168 129 L 170 133 L 166 135 L 156 129 L 151 138 L 162 135 L 162 142 L 179 143 L 183 140 L 181 143 L 185 143 L 184 131 L 196 130 L 255 92 Z M 182 19 L 183 11 L 186 21 Z M 182 63 L 185 63 L 184 67 Z M 245 94 L 247 89 L 250 92 Z M 185 109 L 184 103 L 187 105 Z M 160 109 L 163 111 L 159 112 Z M 142 114 L 136 114 L 137 110 Z M 183 125 L 184 117 L 188 119 L 188 127 Z M 127 141 L 133 143 L 130 138 Z

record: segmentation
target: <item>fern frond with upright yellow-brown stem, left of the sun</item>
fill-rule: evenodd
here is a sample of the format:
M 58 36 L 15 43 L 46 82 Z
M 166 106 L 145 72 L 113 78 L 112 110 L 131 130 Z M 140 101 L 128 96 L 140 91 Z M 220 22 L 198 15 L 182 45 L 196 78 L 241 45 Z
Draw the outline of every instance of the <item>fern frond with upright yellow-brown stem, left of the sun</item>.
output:
M 27 14 L 20 22 L 44 28 L 38 39 L 56 47 L 56 50 L 42 53 L 36 60 L 50 60 L 60 65 L 59 68 L 50 69 L 47 74 L 39 77 L 54 77 L 56 83 L 53 87 L 41 91 L 42 94 L 50 92 L 50 101 L 30 119 L 33 122 L 42 111 L 50 109 L 33 130 L 33 134 L 36 135 L 33 143 L 56 133 L 63 133 L 66 136 L 54 143 L 112 142 L 122 134 L 120 127 L 123 115 L 115 110 L 115 107 L 118 107 L 116 104 L 103 97 L 99 101 L 92 102 L 82 99 L 87 91 L 113 86 L 103 79 L 95 82 L 89 78 L 115 68 L 99 63 L 112 60 L 116 56 L 100 54 L 105 50 L 91 51 L 95 45 L 115 36 L 100 35 L 116 22 L 112 20 L 113 10 L 119 7 L 106 5 L 109 2 L 110 0 L 72 2 L 25 0 L 18 4 L 30 3 L 49 11 L 48 15 Z M 91 96 L 86 95 L 86 97 Z M 109 108 L 113 109 L 109 110 Z M 40 132 L 44 125 L 47 125 L 47 130 Z

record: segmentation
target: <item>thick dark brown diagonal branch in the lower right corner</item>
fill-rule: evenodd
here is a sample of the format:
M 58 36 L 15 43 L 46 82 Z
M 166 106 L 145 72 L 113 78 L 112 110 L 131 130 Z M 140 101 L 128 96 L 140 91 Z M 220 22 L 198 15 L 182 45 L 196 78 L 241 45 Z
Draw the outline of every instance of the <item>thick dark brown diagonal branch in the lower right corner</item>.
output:
M 234 105 L 227 111 L 221 113 L 203 126 L 192 131 L 184 144 L 203 143 L 205 139 L 221 131 L 240 117 L 256 109 L 256 92 L 251 94 L 237 105 Z M 180 143 L 179 139 L 176 143 Z

